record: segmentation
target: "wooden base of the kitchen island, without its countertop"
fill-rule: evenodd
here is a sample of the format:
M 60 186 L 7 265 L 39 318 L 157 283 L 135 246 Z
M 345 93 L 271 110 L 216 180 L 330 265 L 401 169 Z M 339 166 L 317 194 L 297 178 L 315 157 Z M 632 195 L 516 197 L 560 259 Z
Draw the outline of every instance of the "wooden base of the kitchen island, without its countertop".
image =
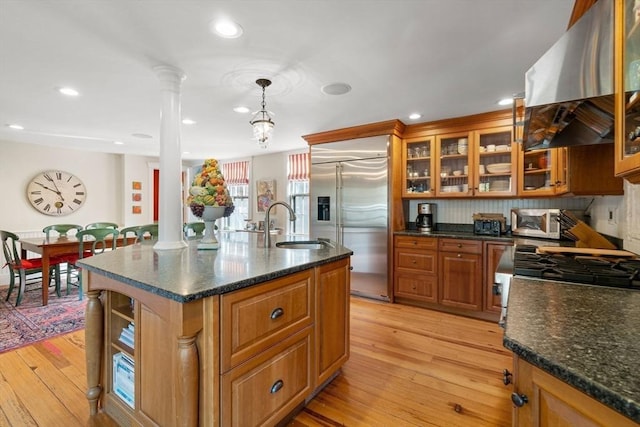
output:
M 277 425 L 349 358 L 348 258 L 188 303 L 87 273 L 87 398 L 118 425 Z

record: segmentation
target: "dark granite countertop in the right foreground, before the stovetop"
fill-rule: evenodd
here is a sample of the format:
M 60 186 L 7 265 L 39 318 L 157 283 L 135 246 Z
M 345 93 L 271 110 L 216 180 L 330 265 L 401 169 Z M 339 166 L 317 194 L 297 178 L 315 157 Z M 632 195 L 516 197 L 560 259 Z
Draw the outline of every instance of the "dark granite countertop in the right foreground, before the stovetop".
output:
M 504 346 L 640 422 L 640 292 L 514 277 Z

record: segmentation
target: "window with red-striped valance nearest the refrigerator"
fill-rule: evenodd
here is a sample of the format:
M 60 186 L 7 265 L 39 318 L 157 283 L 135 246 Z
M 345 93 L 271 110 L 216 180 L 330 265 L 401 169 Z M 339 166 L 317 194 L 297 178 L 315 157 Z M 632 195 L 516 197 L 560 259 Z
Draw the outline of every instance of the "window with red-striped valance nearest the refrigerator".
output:
M 287 169 L 289 204 L 296 213 L 290 233 L 309 234 L 309 153 L 290 154 Z

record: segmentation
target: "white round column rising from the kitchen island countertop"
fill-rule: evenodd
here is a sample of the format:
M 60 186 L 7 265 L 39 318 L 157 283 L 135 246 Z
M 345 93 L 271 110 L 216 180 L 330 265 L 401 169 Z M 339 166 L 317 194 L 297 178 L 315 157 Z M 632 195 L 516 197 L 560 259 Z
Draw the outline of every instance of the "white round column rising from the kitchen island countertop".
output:
M 160 191 L 158 192 L 158 242 L 154 249 L 187 246 L 182 234 L 182 152 L 180 147 L 180 85 L 182 70 L 159 65 L 160 80 Z

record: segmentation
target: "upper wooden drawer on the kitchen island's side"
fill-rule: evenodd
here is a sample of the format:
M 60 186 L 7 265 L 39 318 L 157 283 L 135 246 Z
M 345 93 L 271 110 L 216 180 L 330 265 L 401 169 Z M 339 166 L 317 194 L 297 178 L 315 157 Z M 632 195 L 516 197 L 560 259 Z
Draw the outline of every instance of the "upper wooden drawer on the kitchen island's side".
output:
M 312 324 L 311 272 L 222 295 L 222 372 Z

